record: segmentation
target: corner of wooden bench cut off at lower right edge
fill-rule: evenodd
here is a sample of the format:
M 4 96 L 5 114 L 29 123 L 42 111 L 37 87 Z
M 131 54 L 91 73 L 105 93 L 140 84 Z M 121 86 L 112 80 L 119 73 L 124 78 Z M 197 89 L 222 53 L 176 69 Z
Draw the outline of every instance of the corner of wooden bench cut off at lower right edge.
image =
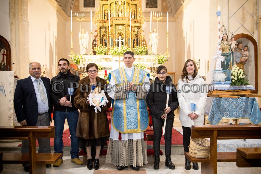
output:
M 237 148 L 236 166 L 261 167 L 261 147 Z

